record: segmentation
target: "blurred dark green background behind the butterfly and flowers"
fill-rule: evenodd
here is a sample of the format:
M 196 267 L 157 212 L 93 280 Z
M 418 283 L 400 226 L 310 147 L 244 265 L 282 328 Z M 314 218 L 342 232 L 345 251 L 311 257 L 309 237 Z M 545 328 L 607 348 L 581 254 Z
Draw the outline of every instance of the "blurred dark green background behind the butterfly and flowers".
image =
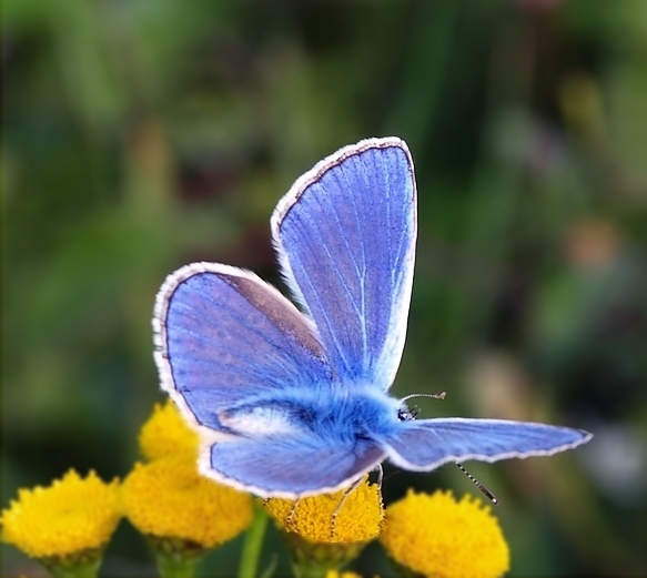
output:
M 156 290 L 208 260 L 280 284 L 271 211 L 317 160 L 408 142 L 419 239 L 397 395 L 587 428 L 471 463 L 512 576 L 647 574 L 647 2 L 6 0 L 2 506 L 138 458 Z M 455 467 L 407 487 L 476 494 Z M 204 564 L 235 571 L 241 539 Z M 285 556 L 272 530 L 266 565 Z M 2 547 L 2 572 L 40 576 Z M 390 575 L 368 547 L 354 568 Z M 104 576 L 152 574 L 122 523 Z

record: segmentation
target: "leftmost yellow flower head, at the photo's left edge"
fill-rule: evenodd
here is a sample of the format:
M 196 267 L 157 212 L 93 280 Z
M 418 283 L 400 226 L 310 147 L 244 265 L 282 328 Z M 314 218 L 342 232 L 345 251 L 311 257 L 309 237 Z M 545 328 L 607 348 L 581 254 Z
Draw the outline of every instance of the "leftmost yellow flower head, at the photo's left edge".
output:
M 64 557 L 102 548 L 120 518 L 118 479 L 70 469 L 50 487 L 18 490 L 2 511 L 2 539 L 33 558 Z

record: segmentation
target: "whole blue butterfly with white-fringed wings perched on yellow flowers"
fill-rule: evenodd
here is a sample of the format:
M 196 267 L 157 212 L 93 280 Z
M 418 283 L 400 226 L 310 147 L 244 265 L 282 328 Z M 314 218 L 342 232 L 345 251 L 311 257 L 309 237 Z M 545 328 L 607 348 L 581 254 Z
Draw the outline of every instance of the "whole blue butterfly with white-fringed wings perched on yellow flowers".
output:
M 162 388 L 201 434 L 203 475 L 263 497 L 352 486 L 388 458 L 548 456 L 587 432 L 502 419 L 414 419 L 388 395 L 413 285 L 416 189 L 396 138 L 345 146 L 301 176 L 271 220 L 301 311 L 253 273 L 193 263 L 155 303 Z

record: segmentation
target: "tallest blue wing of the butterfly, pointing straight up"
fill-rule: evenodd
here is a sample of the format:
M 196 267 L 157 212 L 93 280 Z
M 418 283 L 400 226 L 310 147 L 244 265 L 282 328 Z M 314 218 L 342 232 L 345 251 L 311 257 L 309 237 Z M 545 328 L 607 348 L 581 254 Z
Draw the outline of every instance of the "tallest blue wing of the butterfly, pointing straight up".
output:
M 285 281 L 342 383 L 386 391 L 404 347 L 416 236 L 413 162 L 400 139 L 341 149 L 272 215 Z

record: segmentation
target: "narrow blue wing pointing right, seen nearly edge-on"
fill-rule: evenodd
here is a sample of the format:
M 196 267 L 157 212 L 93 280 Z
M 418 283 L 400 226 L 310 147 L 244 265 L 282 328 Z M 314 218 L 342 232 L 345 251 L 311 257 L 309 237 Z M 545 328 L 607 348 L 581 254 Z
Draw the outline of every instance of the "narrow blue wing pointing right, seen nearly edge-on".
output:
M 388 458 L 404 469 L 429 471 L 448 462 L 497 462 L 550 456 L 588 442 L 580 429 L 505 419 L 412 419 L 385 439 Z

